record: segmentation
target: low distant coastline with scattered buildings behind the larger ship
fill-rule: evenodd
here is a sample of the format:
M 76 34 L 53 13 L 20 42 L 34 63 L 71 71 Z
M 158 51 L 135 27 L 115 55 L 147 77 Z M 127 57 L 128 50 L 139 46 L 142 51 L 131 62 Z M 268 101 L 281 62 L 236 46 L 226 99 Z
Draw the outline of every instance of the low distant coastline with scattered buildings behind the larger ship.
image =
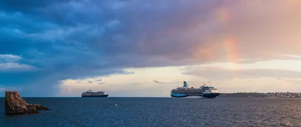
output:
M 301 93 L 295 92 L 237 92 L 222 93 L 217 98 L 301 98 Z

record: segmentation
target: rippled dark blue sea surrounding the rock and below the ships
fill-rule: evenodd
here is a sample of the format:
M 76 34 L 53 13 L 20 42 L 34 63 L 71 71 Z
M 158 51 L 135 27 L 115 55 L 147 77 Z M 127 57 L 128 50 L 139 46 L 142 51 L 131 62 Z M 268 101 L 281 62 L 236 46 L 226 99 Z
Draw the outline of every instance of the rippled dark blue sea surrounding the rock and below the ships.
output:
M 301 99 L 297 98 L 24 99 L 51 110 L 9 116 L 0 98 L 0 126 L 301 126 Z

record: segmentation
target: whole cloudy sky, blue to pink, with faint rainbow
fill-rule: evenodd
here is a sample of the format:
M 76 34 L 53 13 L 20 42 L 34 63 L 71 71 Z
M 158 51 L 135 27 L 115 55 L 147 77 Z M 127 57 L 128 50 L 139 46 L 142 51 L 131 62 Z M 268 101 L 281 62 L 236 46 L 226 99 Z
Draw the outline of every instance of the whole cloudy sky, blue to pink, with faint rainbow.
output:
M 301 1 L 0 1 L 0 96 L 301 92 Z

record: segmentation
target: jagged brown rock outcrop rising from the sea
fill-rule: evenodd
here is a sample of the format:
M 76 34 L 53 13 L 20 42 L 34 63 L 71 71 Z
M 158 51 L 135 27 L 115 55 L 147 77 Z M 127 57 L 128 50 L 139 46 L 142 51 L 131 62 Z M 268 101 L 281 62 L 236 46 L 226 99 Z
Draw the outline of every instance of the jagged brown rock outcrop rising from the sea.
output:
M 50 110 L 41 104 L 28 104 L 17 91 L 5 91 L 6 114 L 39 113 L 38 110 Z

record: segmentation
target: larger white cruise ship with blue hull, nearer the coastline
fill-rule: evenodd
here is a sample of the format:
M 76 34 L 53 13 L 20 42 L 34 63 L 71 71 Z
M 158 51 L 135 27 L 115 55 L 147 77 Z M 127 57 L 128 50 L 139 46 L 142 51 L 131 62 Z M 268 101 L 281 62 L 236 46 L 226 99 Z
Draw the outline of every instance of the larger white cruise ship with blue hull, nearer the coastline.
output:
M 182 87 L 171 90 L 172 98 L 215 98 L 221 93 L 212 86 L 208 86 L 203 82 L 200 88 L 190 86 L 186 81 Z

